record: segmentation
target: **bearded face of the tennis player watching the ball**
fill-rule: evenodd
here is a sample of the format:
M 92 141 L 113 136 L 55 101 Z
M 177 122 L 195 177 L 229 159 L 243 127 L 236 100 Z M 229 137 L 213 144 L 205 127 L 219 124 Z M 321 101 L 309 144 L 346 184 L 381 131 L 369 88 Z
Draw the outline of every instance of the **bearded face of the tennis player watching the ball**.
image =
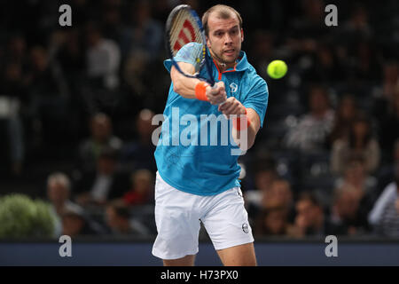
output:
M 216 15 L 216 13 L 211 13 L 207 20 L 209 28 L 207 47 L 220 63 L 232 64 L 241 51 L 241 43 L 244 40 L 243 30 L 239 28 L 239 19 L 235 15 L 229 19 L 222 19 Z

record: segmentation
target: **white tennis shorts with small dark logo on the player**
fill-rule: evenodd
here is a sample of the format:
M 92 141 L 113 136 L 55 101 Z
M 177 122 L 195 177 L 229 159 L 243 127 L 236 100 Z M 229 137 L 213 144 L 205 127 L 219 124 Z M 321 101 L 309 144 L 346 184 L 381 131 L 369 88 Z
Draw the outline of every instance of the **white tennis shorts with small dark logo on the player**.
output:
M 177 259 L 198 253 L 200 221 L 216 250 L 254 241 L 241 189 L 201 196 L 168 185 L 157 172 L 153 255 Z

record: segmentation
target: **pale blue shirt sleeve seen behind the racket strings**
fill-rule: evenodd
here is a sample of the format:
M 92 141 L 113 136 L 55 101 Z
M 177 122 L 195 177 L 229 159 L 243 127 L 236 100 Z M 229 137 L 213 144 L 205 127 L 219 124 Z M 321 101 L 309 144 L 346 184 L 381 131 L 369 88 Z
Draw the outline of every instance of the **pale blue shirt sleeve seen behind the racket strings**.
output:
M 200 67 L 200 55 L 202 52 L 202 44 L 200 43 L 187 43 L 179 51 L 177 51 L 174 57 L 176 62 L 190 63 L 198 71 Z M 163 62 L 163 65 L 167 68 L 168 72 L 172 68 L 172 60 L 167 59 Z

